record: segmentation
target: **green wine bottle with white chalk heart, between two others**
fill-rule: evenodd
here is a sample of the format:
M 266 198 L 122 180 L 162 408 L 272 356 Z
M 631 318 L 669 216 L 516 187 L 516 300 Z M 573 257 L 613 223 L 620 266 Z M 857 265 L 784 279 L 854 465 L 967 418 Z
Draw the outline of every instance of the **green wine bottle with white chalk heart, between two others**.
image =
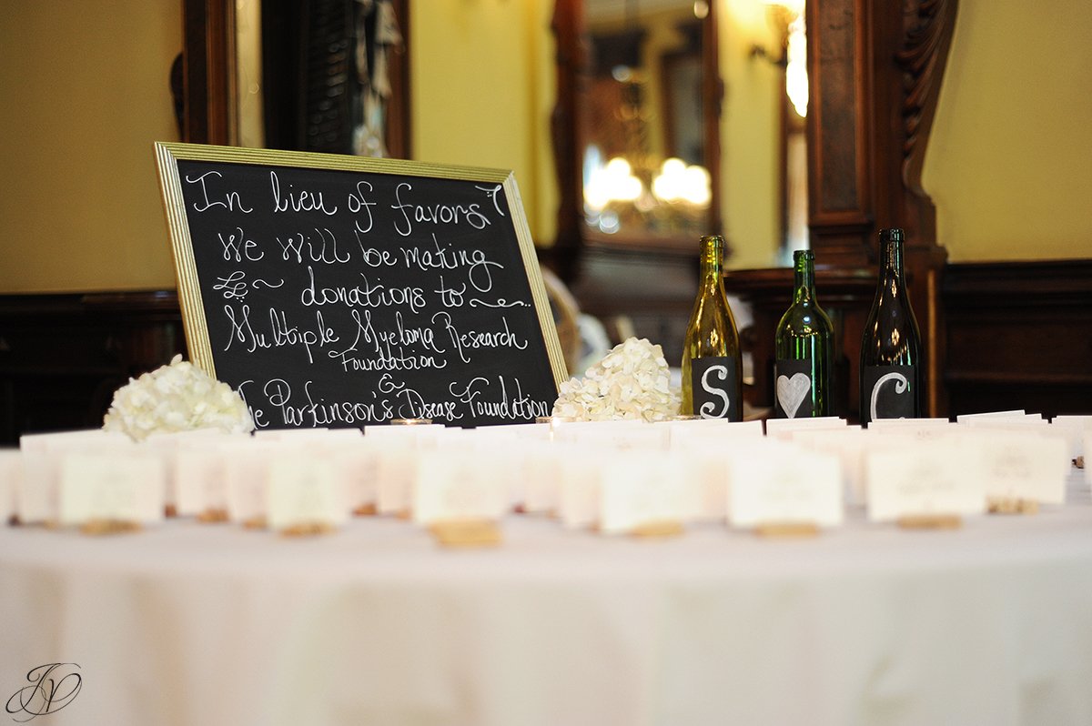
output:
M 774 336 L 774 409 L 779 418 L 832 416 L 834 329 L 816 300 L 815 252 L 794 252 L 793 265 L 793 304 Z

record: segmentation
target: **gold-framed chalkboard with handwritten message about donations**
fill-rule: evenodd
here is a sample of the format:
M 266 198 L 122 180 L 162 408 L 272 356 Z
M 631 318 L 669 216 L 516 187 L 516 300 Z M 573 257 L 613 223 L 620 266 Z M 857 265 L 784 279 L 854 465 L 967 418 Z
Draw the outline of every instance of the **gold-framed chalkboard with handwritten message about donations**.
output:
M 565 362 L 510 171 L 155 151 L 190 360 L 257 427 L 549 414 Z

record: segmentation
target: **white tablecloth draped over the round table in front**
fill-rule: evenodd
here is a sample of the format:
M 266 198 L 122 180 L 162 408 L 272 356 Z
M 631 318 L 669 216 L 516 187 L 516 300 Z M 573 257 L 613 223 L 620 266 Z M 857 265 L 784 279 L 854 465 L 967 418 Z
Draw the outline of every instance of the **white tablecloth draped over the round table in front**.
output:
M 81 691 L 34 723 L 1092 724 L 1076 477 L 1063 508 L 950 532 L 503 533 L 453 551 L 376 517 L 307 540 L 2 527 L 0 698 L 67 662 Z

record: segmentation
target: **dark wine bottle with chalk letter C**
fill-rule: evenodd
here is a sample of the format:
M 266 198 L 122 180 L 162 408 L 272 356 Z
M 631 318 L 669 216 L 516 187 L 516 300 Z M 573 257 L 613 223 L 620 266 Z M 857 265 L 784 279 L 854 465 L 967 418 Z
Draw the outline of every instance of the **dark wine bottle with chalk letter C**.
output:
M 903 275 L 902 229 L 880 230 L 876 297 L 860 341 L 860 422 L 922 415 L 925 361 Z

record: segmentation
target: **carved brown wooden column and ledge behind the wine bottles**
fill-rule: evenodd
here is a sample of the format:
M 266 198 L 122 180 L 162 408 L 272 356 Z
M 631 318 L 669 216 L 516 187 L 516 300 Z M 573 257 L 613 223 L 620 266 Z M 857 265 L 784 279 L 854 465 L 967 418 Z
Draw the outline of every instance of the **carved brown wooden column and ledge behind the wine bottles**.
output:
M 946 413 L 940 275 L 947 252 L 937 245 L 935 209 L 922 190 L 921 170 L 956 9 L 956 0 L 807 5 L 808 224 L 819 299 L 838 318 L 848 367 L 839 408 L 851 414 L 857 410 L 860 334 L 873 297 L 860 282 L 876 279 L 877 236 L 885 227 L 906 230 L 906 274 L 928 366 L 925 408 L 930 416 Z M 833 300 L 824 278 L 836 286 Z M 773 329 L 767 326 L 774 310 L 788 307 L 791 279 L 790 271 L 726 277 L 731 290 L 753 304 L 756 326 L 762 325 L 755 336 L 757 405 L 773 402 L 772 377 L 764 370 L 767 358 L 772 365 Z

